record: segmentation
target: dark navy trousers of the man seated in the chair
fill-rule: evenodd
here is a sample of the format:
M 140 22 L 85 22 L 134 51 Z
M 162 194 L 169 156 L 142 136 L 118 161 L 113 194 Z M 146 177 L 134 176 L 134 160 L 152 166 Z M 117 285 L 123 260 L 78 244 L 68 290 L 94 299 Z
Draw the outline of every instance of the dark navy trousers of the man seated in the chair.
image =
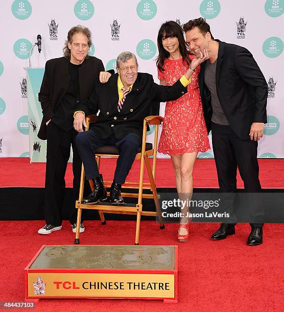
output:
M 92 130 L 79 133 L 76 138 L 76 145 L 84 164 L 86 179 L 99 176 L 98 164 L 94 158 L 96 148 L 103 145 L 115 145 L 120 156 L 116 162 L 113 180 L 117 184 L 124 184 L 140 144 L 139 136 L 133 133 L 127 134 L 123 139 L 117 139 L 114 134 L 106 139 L 101 139 Z

